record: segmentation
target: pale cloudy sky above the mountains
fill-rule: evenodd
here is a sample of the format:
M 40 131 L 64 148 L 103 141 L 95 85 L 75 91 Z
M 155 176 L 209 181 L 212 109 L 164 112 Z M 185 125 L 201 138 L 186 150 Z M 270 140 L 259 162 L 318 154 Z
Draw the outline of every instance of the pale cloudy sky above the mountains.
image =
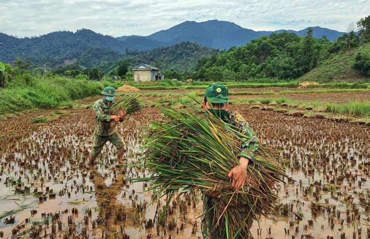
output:
M 87 28 L 103 35 L 150 35 L 184 21 L 217 19 L 252 29 L 347 32 L 370 15 L 370 0 L 0 0 L 0 32 L 18 37 Z

